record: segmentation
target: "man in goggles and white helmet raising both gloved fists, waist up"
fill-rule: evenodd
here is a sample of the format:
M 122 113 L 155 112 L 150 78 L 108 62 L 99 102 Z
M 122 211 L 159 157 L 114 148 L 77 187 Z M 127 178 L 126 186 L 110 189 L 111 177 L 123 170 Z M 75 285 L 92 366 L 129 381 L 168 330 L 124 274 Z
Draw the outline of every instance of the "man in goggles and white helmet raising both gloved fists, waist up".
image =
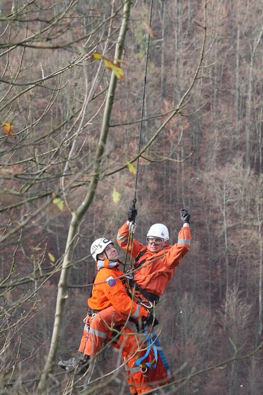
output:
M 117 243 L 123 250 L 127 250 L 135 259 L 133 269 L 134 278 L 130 285 L 138 291 L 136 296 L 157 303 L 160 295 L 172 276 L 182 258 L 189 251 L 191 233 L 189 229 L 190 214 L 185 208 L 181 209 L 180 216 L 183 227 L 178 235 L 178 242 L 169 245 L 169 232 L 163 224 L 153 224 L 146 237 L 147 245 L 133 238 L 132 248 L 128 245 L 129 228 L 131 222 L 135 223 L 137 209 L 135 201 L 128 210 L 128 221 L 118 230 Z

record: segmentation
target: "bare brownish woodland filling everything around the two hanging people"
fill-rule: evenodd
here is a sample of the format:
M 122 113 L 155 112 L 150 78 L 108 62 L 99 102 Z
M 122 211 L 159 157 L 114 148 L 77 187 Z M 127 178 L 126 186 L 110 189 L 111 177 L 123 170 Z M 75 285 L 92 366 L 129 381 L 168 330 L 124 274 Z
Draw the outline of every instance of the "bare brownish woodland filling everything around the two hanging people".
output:
M 0 0 L 0 394 L 128 394 L 112 348 L 89 385 L 56 363 L 78 349 L 90 245 L 126 220 L 141 127 L 135 237 L 160 222 L 177 242 L 182 207 L 193 237 L 156 309 L 179 379 L 158 393 L 262 394 L 262 4 L 150 5 Z

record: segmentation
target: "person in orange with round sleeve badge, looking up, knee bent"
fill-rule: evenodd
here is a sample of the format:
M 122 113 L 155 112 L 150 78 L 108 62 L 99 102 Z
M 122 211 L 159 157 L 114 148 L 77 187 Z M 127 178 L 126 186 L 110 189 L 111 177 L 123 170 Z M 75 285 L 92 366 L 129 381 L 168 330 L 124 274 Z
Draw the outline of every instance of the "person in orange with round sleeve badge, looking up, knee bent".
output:
M 94 278 L 92 293 L 88 299 L 88 316 L 85 318 L 83 335 L 78 349 L 78 355 L 68 360 L 59 361 L 58 365 L 67 370 L 76 370 L 77 374 L 83 374 L 87 370 L 91 356 L 96 356 L 109 340 L 113 333 L 113 327 L 121 333 L 113 347 L 120 349 L 125 362 L 125 369 L 129 387 L 137 393 L 149 392 L 153 387 L 147 383 L 146 376 L 141 369 L 135 369 L 135 361 L 138 358 L 136 350 L 140 344 L 140 336 L 128 328 L 126 322 L 132 319 L 134 322 L 146 322 L 148 325 L 158 324 L 157 319 L 135 300 L 132 300 L 123 283 L 124 273 L 120 269 L 118 252 L 113 241 L 100 237 L 91 245 L 90 253 L 96 262 L 97 274 Z M 133 298 L 134 299 L 134 298 Z M 123 327 L 124 325 L 124 327 Z M 116 337 L 116 336 L 115 336 Z M 159 374 L 165 374 L 162 367 Z M 160 376 L 160 379 L 163 376 Z M 158 377 L 157 377 L 158 379 Z

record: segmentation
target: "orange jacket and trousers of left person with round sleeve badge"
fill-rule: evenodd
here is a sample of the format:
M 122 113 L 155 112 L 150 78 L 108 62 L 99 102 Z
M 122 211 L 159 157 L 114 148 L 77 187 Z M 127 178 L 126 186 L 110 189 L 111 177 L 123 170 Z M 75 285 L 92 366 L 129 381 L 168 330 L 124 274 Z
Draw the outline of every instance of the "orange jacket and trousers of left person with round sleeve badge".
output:
M 92 288 L 92 296 L 88 299 L 88 305 L 93 310 L 100 310 L 92 318 L 89 327 L 84 327 L 79 352 L 94 356 L 102 348 L 105 340 L 110 340 L 112 332 L 109 328 L 123 325 L 130 316 L 134 319 L 146 317 L 147 310 L 136 304 L 127 295 L 125 286 L 122 283 L 123 272 L 116 267 L 109 268 L 109 260 L 104 261 L 104 267 L 96 275 Z M 121 349 L 123 362 L 126 362 L 128 385 L 131 394 L 143 394 L 152 390 L 146 383 L 146 378 L 141 369 L 135 365 L 137 355 L 135 354 L 141 344 L 140 335 L 137 335 L 130 328 L 122 328 L 121 335 L 117 343 L 112 343 L 113 347 Z M 135 354 L 135 355 L 134 355 Z

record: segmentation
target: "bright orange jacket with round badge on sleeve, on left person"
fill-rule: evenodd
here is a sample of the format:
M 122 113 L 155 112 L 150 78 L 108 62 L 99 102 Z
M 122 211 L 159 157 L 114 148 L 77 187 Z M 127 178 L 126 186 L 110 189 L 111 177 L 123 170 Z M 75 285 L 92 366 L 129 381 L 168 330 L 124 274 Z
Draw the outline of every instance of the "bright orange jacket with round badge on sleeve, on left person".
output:
M 92 296 L 88 306 L 93 310 L 104 310 L 113 306 L 118 312 L 131 318 L 148 315 L 147 310 L 130 299 L 125 290 L 125 279 L 117 278 L 123 275 L 118 268 L 109 268 L 109 259 L 104 261 L 105 267 L 100 269 L 95 277 Z M 118 266 L 118 265 L 117 265 Z M 124 283 L 123 283 L 124 282 Z

